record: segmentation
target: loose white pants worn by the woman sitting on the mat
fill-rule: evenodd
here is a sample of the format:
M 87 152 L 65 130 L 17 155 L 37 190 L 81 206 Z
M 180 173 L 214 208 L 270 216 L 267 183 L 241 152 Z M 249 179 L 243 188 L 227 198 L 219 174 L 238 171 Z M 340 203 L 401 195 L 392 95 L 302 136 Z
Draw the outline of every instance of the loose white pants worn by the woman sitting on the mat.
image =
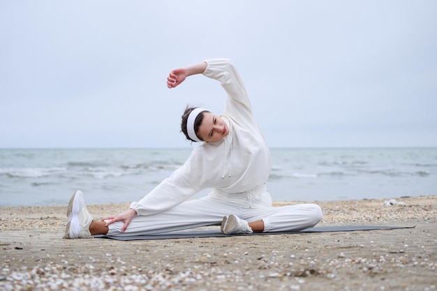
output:
M 213 189 L 207 197 L 189 200 L 167 211 L 150 216 L 134 216 L 125 232 L 123 222 L 109 225 L 108 235 L 158 234 L 193 227 L 220 225 L 223 216 L 235 214 L 246 221 L 264 222 L 264 232 L 304 230 L 323 218 L 316 204 L 272 207 L 265 186 L 245 193 L 225 193 Z

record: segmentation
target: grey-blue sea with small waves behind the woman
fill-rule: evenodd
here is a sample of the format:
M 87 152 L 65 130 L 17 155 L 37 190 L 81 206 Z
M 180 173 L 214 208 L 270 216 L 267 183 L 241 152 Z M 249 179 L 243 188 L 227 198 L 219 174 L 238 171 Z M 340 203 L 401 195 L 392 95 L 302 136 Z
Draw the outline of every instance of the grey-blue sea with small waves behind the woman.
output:
M 0 149 L 0 206 L 140 200 L 191 149 Z M 271 149 L 274 201 L 437 195 L 437 148 Z M 193 197 L 207 195 L 205 189 Z

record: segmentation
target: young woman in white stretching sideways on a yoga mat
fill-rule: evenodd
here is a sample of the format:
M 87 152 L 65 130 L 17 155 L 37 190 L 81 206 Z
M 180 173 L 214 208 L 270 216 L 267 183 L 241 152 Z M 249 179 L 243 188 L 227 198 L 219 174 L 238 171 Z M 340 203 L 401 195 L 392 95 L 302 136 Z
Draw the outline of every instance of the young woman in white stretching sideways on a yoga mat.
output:
M 220 224 L 225 234 L 291 231 L 313 227 L 322 219 L 316 204 L 272 207 L 265 186 L 269 149 L 232 62 L 207 59 L 172 70 L 167 86 L 175 88 L 195 74 L 221 82 L 228 97 L 221 116 L 186 108 L 182 132 L 200 143 L 188 161 L 128 210 L 101 221 L 93 220 L 82 193 L 76 191 L 68 204 L 66 238 L 157 234 Z M 212 188 L 207 197 L 188 200 L 203 188 Z

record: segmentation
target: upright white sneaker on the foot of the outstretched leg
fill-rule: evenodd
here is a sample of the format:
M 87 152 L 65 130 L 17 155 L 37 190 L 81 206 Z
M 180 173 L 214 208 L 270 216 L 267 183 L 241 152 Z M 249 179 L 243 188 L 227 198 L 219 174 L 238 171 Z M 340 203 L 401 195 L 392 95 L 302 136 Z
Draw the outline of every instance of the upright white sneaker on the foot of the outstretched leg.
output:
M 65 228 L 65 239 L 90 239 L 89 225 L 93 217 L 85 206 L 84 195 L 80 190 L 71 196 L 67 207 L 68 223 Z

